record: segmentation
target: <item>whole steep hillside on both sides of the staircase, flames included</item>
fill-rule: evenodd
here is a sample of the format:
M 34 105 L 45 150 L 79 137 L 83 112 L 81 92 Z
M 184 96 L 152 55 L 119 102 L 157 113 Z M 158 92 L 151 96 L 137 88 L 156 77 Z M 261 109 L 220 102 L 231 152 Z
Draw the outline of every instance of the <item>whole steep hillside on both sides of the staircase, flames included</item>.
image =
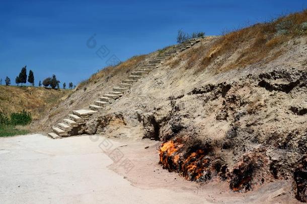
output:
M 169 49 L 93 75 L 33 128 L 51 131 L 157 60 L 78 134 L 159 140 L 161 165 L 188 180 L 235 192 L 284 180 L 276 199 L 307 201 L 307 11 L 203 38 L 160 64 Z

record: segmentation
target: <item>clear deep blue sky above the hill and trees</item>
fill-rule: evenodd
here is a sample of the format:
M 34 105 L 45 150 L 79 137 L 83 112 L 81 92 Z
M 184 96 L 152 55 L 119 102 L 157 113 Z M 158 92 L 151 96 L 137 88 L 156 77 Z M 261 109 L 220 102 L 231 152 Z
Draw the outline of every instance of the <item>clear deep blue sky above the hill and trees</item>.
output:
M 175 44 L 179 29 L 219 35 L 305 8 L 305 0 L 1 1 L 0 78 L 15 84 L 27 65 L 36 85 L 52 74 L 77 84 L 111 56 L 124 61 Z M 96 53 L 102 46 L 106 57 Z

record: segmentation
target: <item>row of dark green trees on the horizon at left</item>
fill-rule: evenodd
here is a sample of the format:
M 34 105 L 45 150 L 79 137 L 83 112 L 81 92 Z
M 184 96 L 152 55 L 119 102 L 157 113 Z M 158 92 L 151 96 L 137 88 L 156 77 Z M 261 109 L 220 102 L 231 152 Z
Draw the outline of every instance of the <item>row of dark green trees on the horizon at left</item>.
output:
M 34 86 L 34 73 L 32 70 L 29 71 L 29 76 L 28 76 L 28 82 Z M 2 85 L 3 81 L 2 79 L 0 79 L 0 85 Z M 19 86 L 19 84 L 21 84 L 21 86 L 23 84 L 27 83 L 27 65 L 22 67 L 21 72 L 19 73 L 19 75 L 16 77 L 15 79 L 15 83 L 17 84 L 17 86 Z M 5 79 L 5 84 L 6 86 L 10 86 L 11 85 L 11 79 L 9 77 L 6 77 Z M 44 86 L 45 88 L 50 87 L 51 89 L 60 89 L 60 81 L 58 81 L 56 79 L 55 75 L 52 75 L 52 77 L 47 77 L 46 79 L 43 80 L 43 83 L 41 81 L 39 81 L 38 86 Z M 68 83 L 68 88 L 72 89 L 73 84 L 72 82 Z M 63 83 L 63 89 L 66 89 L 66 83 Z

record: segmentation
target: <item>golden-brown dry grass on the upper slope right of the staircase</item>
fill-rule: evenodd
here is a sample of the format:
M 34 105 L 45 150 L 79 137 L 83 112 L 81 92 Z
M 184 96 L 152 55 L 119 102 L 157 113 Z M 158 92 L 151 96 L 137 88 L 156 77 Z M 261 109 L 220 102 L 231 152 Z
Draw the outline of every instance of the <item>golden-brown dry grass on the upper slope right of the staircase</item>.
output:
M 220 73 L 261 60 L 267 63 L 283 54 L 284 43 L 307 34 L 302 29 L 304 22 L 307 22 L 307 10 L 225 34 L 209 49 L 199 46 L 182 55 L 182 59 L 186 60 L 186 69 L 193 67 L 196 73 L 212 64 L 214 72 Z

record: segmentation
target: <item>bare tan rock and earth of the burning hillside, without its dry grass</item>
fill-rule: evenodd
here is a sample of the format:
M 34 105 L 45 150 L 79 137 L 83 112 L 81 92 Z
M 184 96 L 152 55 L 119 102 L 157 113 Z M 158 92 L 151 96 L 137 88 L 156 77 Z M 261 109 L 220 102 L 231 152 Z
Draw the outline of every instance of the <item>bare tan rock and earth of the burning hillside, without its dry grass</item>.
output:
M 191 64 L 187 56 L 200 57 L 200 49 L 208 50 L 215 40 L 199 43 L 139 80 L 92 117 L 83 132 L 159 140 L 161 165 L 191 181 L 219 179 L 234 191 L 247 191 L 285 179 L 293 182 L 293 192 L 304 201 L 307 38 L 281 45 L 283 53 L 270 61 L 215 72 L 217 57 L 208 69 L 195 72 L 198 63 Z M 233 61 L 240 57 L 228 55 Z M 120 76 L 113 79 L 120 81 Z M 88 84 L 72 98 L 95 100 L 95 89 L 105 91 L 111 84 Z M 58 109 L 69 111 L 69 103 Z M 72 102 L 73 107 L 74 103 L 81 104 Z

